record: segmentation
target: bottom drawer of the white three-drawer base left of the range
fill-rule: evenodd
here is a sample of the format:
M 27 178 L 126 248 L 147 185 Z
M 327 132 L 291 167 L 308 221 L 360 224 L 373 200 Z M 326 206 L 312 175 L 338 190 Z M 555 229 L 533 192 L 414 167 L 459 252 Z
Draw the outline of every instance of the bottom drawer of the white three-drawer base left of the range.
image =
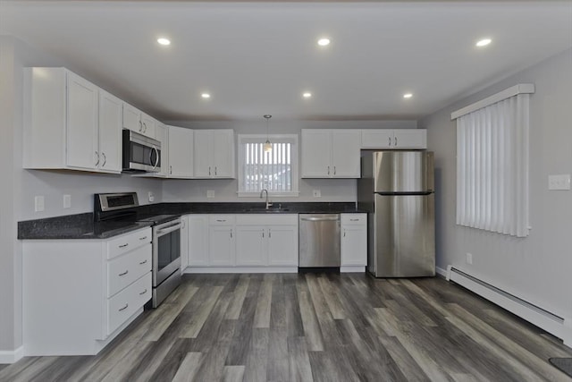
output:
M 107 300 L 107 335 L 151 299 L 151 272 Z

